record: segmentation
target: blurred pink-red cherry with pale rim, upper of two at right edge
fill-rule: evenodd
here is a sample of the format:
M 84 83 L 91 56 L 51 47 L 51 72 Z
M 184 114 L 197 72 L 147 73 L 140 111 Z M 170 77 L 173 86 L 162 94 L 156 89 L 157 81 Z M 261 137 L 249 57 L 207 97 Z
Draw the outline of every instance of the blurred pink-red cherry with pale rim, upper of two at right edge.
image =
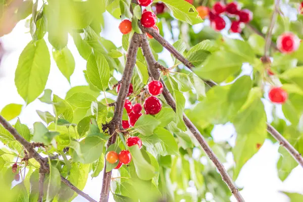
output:
M 285 54 L 292 53 L 298 49 L 300 45 L 300 39 L 297 35 L 291 32 L 285 32 L 277 39 L 277 47 L 279 51 Z

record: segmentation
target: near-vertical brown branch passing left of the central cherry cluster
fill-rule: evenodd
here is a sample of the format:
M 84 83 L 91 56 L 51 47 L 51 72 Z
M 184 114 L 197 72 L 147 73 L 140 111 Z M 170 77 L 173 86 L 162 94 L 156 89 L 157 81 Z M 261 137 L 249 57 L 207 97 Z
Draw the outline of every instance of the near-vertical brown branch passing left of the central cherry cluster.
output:
M 124 103 L 126 96 L 128 94 L 128 89 L 129 89 L 129 84 L 131 81 L 133 69 L 136 64 L 137 51 L 140 45 L 140 41 L 141 41 L 141 35 L 134 33 L 128 47 L 126 64 L 122 76 L 122 83 L 120 85 L 120 89 L 117 96 L 114 117 L 110 122 L 110 126 L 109 126 L 109 132 L 112 135 L 112 137 L 108 141 L 108 146 L 115 143 L 117 138 L 116 129 L 120 129 L 122 127 L 122 113 L 123 113 Z M 105 161 L 105 166 L 103 171 L 102 191 L 100 193 L 100 202 L 107 202 L 109 200 L 111 176 L 112 176 L 112 171 L 108 173 L 106 172 L 106 161 Z

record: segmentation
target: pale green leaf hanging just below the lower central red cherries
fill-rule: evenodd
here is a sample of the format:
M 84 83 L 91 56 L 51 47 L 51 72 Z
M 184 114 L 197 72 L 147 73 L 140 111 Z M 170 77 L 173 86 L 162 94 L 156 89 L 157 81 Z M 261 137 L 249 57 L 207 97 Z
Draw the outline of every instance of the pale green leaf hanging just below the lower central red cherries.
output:
M 142 180 L 153 179 L 156 174 L 155 168 L 144 159 L 139 146 L 137 144 L 130 146 L 129 151 L 138 177 Z

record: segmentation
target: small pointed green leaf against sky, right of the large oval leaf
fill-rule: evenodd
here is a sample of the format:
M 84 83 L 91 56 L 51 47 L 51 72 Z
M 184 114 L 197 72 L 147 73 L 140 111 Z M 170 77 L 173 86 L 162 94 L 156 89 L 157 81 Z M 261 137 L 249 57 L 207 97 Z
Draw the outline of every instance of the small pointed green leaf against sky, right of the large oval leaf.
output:
M 70 77 L 75 70 L 75 60 L 71 51 L 64 47 L 61 51 L 54 51 L 53 57 L 61 73 L 71 82 Z

